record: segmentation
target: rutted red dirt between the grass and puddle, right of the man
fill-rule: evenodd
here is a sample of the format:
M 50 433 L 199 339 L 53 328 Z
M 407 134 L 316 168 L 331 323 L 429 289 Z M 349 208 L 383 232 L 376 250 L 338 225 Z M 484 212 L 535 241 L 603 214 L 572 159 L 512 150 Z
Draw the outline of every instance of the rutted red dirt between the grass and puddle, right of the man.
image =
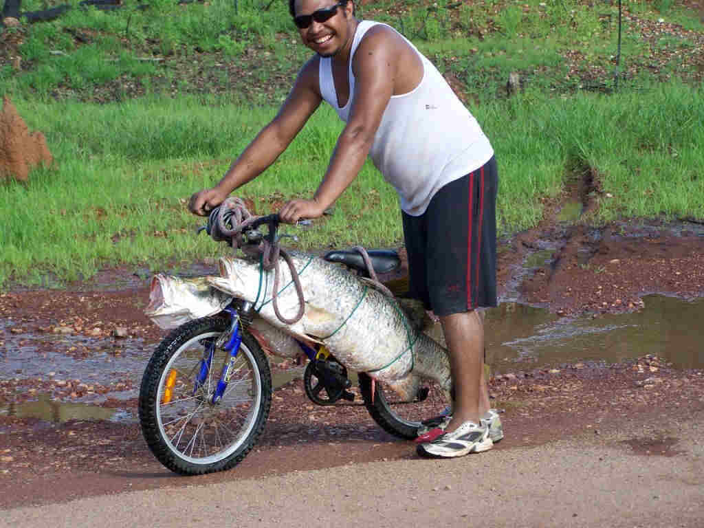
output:
M 638 231 L 619 234 L 607 227 L 601 239 L 593 241 L 586 228 L 570 228 L 553 263 L 522 284 L 525 301 L 574 315 L 638 310 L 641 296 L 650 293 L 683 298 L 704 294 L 704 237 Z M 527 237 L 517 241 L 522 246 L 530 243 Z M 586 262 L 579 262 L 580 255 Z

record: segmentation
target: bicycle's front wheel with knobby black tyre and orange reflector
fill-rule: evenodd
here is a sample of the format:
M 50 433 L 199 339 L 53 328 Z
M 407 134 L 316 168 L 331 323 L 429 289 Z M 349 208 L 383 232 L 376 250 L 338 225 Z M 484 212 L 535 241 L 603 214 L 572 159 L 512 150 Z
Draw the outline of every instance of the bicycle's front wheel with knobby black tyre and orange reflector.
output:
M 153 353 L 139 390 L 139 422 L 151 452 L 180 474 L 229 470 L 244 459 L 264 429 L 271 406 L 271 373 L 258 342 L 243 332 L 227 389 L 213 392 L 230 353 L 215 346 L 225 318 L 187 322 Z

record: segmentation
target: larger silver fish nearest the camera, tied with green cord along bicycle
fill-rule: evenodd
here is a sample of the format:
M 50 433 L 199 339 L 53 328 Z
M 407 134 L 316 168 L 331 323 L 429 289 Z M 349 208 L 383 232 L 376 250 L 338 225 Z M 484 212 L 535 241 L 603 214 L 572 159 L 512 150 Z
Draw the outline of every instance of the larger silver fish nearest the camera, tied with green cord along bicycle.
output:
M 423 378 L 451 388 L 444 348 L 413 325 L 394 298 L 339 265 L 307 253 L 291 253 L 303 289 L 303 318 L 287 325 L 275 314 L 274 272 L 256 258 L 222 257 L 220 277 L 207 277 L 216 289 L 253 303 L 260 318 L 286 334 L 322 341 L 349 370 L 367 372 L 410 401 Z M 298 296 L 289 268 L 281 261 L 277 304 L 292 318 Z

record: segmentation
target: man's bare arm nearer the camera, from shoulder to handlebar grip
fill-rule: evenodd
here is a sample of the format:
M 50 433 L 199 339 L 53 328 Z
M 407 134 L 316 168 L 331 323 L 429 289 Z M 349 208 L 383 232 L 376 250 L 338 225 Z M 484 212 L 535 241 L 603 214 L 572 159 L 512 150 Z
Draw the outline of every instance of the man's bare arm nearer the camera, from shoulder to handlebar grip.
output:
M 364 165 L 386 105 L 394 93 L 396 62 L 386 32 L 370 30 L 353 56 L 356 77 L 347 125 L 337 139 L 322 183 L 312 200 L 289 201 L 279 213 L 284 222 L 318 218 L 349 187 Z M 352 96 L 352 94 L 350 94 Z

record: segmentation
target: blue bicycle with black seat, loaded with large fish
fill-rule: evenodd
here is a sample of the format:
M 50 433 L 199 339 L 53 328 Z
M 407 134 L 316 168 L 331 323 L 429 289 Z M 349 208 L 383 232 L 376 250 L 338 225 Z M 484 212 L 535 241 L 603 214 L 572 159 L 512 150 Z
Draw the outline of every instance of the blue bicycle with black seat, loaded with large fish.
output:
M 258 228 L 266 225 L 268 234 Z M 242 233 L 246 244 L 277 241 L 278 215 L 260 217 Z M 369 251 L 376 273 L 397 270 L 395 251 Z M 348 272 L 370 274 L 352 251 L 329 251 L 325 260 Z M 268 418 L 272 382 L 268 359 L 251 332 L 253 305 L 234 298 L 220 313 L 172 330 L 154 351 L 139 390 L 139 422 L 153 455 L 179 474 L 229 470 L 249 453 Z M 296 339 L 308 359 L 303 375 L 313 403 L 353 401 L 347 369 L 325 346 Z M 446 391 L 428 381 L 413 401 L 399 401 L 386 384 L 358 373 L 363 403 L 377 424 L 401 439 L 415 439 L 423 418 L 448 406 Z

